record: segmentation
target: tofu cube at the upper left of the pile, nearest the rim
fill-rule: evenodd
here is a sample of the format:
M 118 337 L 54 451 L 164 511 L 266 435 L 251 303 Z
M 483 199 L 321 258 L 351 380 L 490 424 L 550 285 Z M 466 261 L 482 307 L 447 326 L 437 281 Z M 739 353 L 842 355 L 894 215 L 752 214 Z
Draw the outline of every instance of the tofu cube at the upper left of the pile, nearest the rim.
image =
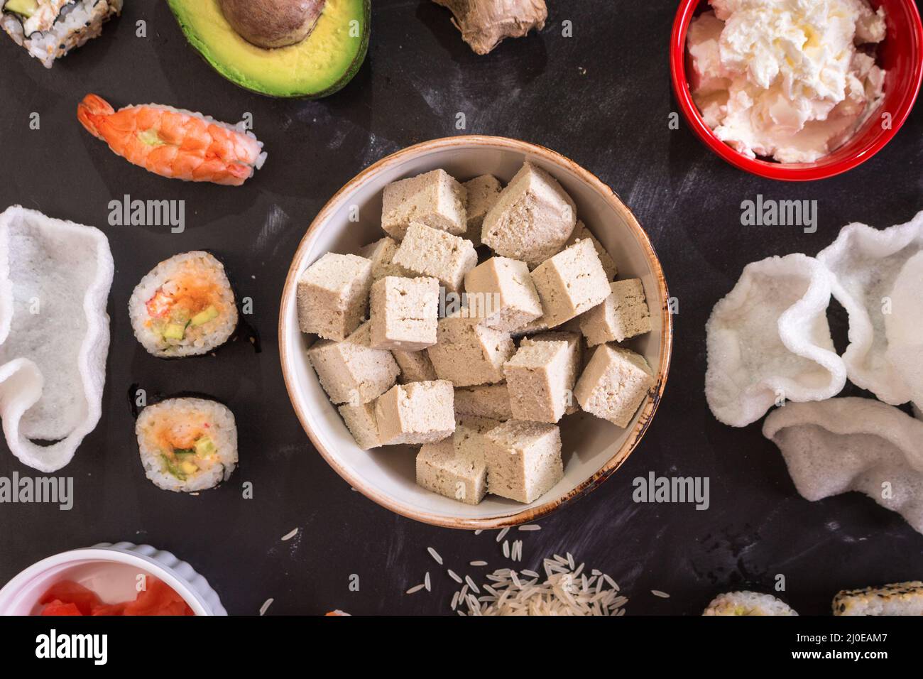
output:
M 393 182 L 384 190 L 381 228 L 397 240 L 414 222 L 459 236 L 468 228 L 466 199 L 465 188 L 445 170 Z

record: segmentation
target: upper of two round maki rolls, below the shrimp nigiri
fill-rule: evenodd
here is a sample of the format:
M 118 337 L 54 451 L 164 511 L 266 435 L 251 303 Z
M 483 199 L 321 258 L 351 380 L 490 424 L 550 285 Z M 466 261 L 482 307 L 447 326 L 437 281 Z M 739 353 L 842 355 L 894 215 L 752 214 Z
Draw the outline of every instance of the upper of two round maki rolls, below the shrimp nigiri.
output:
M 158 264 L 131 294 L 128 314 L 138 342 L 161 358 L 207 354 L 237 327 L 231 283 L 208 252 Z

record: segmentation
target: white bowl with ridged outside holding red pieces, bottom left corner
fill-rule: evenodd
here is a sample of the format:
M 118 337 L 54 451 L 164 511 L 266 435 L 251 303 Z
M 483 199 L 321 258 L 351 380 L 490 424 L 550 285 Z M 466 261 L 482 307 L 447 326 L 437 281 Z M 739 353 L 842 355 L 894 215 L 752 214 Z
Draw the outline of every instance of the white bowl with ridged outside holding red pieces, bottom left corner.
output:
M 0 589 L 0 615 L 38 614 L 42 594 L 61 580 L 74 580 L 107 603 L 133 600 L 138 573 L 159 577 L 196 615 L 227 615 L 218 594 L 191 565 L 171 552 L 131 542 L 102 542 L 30 565 Z

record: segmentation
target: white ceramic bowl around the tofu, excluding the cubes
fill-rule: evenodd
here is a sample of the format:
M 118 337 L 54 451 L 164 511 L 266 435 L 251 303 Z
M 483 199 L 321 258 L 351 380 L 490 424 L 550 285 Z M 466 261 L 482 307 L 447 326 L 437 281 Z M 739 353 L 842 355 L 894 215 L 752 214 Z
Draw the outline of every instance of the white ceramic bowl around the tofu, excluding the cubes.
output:
M 564 479 L 531 504 L 487 495 L 478 505 L 458 503 L 414 482 L 414 453 L 402 446 L 361 450 L 320 387 L 306 356 L 308 336 L 298 329 L 298 276 L 326 252 L 357 252 L 384 236 L 381 193 L 390 182 L 442 168 L 465 181 L 492 174 L 509 182 L 524 161 L 542 167 L 568 191 L 578 217 L 612 254 L 618 278 L 641 278 L 651 309 L 653 332 L 628 346 L 647 358 L 656 386 L 627 429 L 586 413 L 561 420 Z M 349 216 L 358 206 L 359 221 Z M 318 451 L 355 490 L 398 514 L 457 528 L 494 528 L 531 521 L 616 470 L 641 440 L 663 394 L 672 347 L 664 273 L 651 242 L 611 188 L 567 158 L 524 141 L 462 136 L 435 139 L 394 153 L 371 165 L 343 187 L 318 213 L 298 247 L 282 293 L 279 345 L 282 373 L 298 418 Z

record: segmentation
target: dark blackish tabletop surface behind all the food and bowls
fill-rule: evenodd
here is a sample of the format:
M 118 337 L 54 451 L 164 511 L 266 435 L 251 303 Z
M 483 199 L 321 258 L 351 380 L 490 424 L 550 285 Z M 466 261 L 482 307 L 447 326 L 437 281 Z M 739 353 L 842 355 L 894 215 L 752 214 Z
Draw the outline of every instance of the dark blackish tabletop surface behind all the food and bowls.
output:
M 668 80 L 667 42 L 676 3 L 551 2 L 540 36 L 473 55 L 449 13 L 427 0 L 375 0 L 368 59 L 354 81 L 320 102 L 273 101 L 239 90 L 210 70 L 165 3 L 130 0 L 101 39 L 46 71 L 0 40 L 0 208 L 21 203 L 54 217 L 102 227 L 115 259 L 113 343 L 103 416 L 65 473 L 76 507 L 0 505 L 0 582 L 54 552 L 106 540 L 149 542 L 192 563 L 228 611 L 270 613 L 448 612 L 447 565 L 501 566 L 491 535 L 427 527 L 391 515 L 351 491 L 308 443 L 282 383 L 276 321 L 282 282 L 307 225 L 367 164 L 404 146 L 468 131 L 544 144 L 615 188 L 650 233 L 679 299 L 676 348 L 665 397 L 638 450 L 591 495 L 518 533 L 525 563 L 569 550 L 617 579 L 631 613 L 695 614 L 727 588 L 770 590 L 802 613 L 825 613 L 839 588 L 923 576 L 923 536 L 855 493 L 808 503 L 758 425 L 733 430 L 702 395 L 704 323 L 749 261 L 825 247 L 843 224 L 905 222 L 923 208 L 923 110 L 875 158 L 846 176 L 807 185 L 761 180 L 725 165 L 685 127 Z M 135 37 L 138 18 L 146 39 Z M 560 22 L 573 21 L 574 37 Z M 269 161 L 244 188 L 185 184 L 126 164 L 90 138 L 75 106 L 94 91 L 117 107 L 156 102 L 234 121 L 245 112 Z M 28 127 L 30 112 L 42 128 Z M 186 233 L 107 225 L 110 200 L 185 199 Z M 820 228 L 741 227 L 740 201 L 820 201 Z M 126 313 L 134 285 L 158 261 L 212 249 L 254 299 L 264 351 L 246 343 L 216 358 L 162 362 L 136 343 Z M 842 335 L 843 316 L 834 312 Z M 231 482 L 198 497 L 156 489 L 138 463 L 127 403 L 130 383 L 150 393 L 210 392 L 234 408 L 241 465 Z M 6 452 L 0 475 L 30 473 Z M 707 476 L 712 506 L 636 504 L 631 480 L 648 471 Z M 252 481 L 255 499 L 241 499 Z M 298 537 L 282 535 L 298 527 Z M 403 591 L 433 576 L 432 594 Z M 348 588 L 358 575 L 358 592 Z M 662 589 L 672 597 L 654 598 Z

